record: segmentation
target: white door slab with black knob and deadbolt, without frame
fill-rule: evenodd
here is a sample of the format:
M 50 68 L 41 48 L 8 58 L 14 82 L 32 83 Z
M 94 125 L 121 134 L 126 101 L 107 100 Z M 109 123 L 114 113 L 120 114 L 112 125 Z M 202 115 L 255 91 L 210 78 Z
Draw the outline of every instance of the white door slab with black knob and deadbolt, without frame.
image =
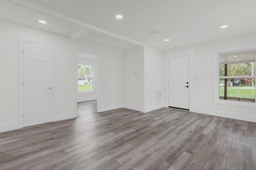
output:
M 169 106 L 189 109 L 189 55 L 169 58 Z

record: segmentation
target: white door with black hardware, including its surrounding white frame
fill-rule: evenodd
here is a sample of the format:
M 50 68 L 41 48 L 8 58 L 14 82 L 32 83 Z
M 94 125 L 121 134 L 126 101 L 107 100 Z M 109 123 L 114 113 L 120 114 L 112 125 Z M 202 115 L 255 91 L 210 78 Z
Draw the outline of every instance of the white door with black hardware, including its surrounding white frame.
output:
M 165 107 L 193 108 L 194 51 L 165 56 Z

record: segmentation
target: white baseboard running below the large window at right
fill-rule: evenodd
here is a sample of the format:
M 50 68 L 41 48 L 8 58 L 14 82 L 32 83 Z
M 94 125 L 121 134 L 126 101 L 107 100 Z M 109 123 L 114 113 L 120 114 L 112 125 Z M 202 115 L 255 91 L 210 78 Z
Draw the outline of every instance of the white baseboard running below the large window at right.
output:
M 256 122 L 256 117 L 252 117 L 252 116 L 237 115 L 234 113 L 211 111 L 211 110 L 196 109 L 196 108 L 194 108 L 193 110 L 195 113 L 202 113 L 205 115 L 213 115 L 213 116 L 226 117 L 230 119 L 237 119 L 237 120 L 248 121 L 248 122 Z

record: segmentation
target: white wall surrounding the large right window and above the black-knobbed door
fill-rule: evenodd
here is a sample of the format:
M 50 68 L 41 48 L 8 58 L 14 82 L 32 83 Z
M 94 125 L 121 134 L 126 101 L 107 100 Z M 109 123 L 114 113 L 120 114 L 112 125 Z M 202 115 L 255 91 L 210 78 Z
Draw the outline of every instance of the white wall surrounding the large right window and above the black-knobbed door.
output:
M 256 44 L 256 34 L 164 50 L 194 50 L 194 112 L 256 122 L 256 109 L 213 104 L 213 51 Z

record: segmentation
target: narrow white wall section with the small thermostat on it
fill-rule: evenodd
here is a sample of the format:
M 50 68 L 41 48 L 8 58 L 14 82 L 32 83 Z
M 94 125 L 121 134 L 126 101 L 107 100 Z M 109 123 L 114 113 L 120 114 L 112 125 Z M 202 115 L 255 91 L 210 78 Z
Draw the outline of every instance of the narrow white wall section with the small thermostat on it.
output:
M 123 107 L 141 111 L 144 48 L 133 47 L 123 51 Z M 137 72 L 137 73 L 135 73 Z

